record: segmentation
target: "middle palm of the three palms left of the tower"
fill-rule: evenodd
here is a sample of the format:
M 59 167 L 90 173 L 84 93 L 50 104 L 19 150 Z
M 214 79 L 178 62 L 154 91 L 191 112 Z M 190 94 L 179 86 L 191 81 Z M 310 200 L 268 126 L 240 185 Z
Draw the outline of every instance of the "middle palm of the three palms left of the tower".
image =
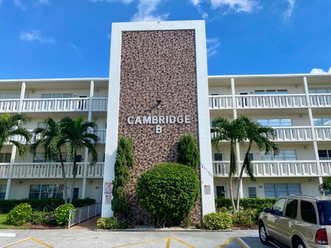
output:
M 36 154 L 37 147 L 42 146 L 46 161 L 59 161 L 61 163 L 61 171 L 63 177 L 63 198 L 64 203 L 67 203 L 67 179 L 64 161 L 61 152 L 61 146 L 65 144 L 65 140 L 60 135 L 59 122 L 48 117 L 43 120 L 44 127 L 37 127 L 33 130 L 34 141 L 30 146 L 30 152 Z M 53 141 L 55 140 L 55 141 Z

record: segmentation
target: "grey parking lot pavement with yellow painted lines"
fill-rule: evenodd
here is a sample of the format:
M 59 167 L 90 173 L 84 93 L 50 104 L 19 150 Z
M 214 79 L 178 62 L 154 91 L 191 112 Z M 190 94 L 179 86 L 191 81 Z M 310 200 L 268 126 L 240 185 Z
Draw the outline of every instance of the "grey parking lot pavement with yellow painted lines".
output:
M 241 231 L 90 231 L 90 230 L 1 230 L 14 238 L 0 238 L 0 247 L 132 247 L 132 248 L 263 248 L 257 230 Z M 32 237 L 32 238 L 30 238 Z M 232 238 L 232 240 L 230 240 Z M 242 244 L 236 238 L 241 238 Z M 229 242 L 230 240 L 230 242 Z M 14 243 L 16 242 L 16 243 Z M 246 245 L 247 244 L 247 245 Z M 10 245 L 10 246 L 8 246 Z

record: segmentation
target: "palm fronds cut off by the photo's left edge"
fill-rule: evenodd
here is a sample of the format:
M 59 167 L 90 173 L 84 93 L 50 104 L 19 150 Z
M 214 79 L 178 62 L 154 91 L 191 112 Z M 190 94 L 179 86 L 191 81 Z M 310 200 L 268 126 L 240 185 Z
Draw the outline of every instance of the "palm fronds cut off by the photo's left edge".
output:
M 10 143 L 17 147 L 19 158 L 23 158 L 26 154 L 26 147 L 30 143 L 31 134 L 28 130 L 22 127 L 29 121 L 28 117 L 24 114 L 3 114 L 0 116 L 0 151 L 3 145 Z M 25 138 L 26 144 L 14 140 L 14 136 Z

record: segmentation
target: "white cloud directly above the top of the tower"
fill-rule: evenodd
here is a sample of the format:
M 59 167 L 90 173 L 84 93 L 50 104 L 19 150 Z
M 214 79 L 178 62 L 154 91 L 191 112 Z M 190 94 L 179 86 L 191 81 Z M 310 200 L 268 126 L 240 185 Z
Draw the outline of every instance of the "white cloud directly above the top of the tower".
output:
M 138 12 L 134 14 L 131 21 L 164 21 L 168 19 L 169 14 L 154 14 L 157 10 L 157 5 L 161 0 L 139 0 L 137 9 Z

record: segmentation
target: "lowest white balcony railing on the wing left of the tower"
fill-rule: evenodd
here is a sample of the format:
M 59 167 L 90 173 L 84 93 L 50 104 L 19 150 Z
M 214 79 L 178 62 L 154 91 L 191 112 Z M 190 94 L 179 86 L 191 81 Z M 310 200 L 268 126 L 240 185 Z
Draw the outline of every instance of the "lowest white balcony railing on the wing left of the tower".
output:
M 62 169 L 60 163 L 14 163 L 12 173 L 9 173 L 9 163 L 0 164 L 0 178 L 62 178 Z M 67 178 L 72 178 L 72 163 L 65 163 L 65 172 Z M 103 163 L 97 163 L 89 166 L 87 172 L 84 172 L 84 163 L 77 163 L 77 178 L 102 178 Z

